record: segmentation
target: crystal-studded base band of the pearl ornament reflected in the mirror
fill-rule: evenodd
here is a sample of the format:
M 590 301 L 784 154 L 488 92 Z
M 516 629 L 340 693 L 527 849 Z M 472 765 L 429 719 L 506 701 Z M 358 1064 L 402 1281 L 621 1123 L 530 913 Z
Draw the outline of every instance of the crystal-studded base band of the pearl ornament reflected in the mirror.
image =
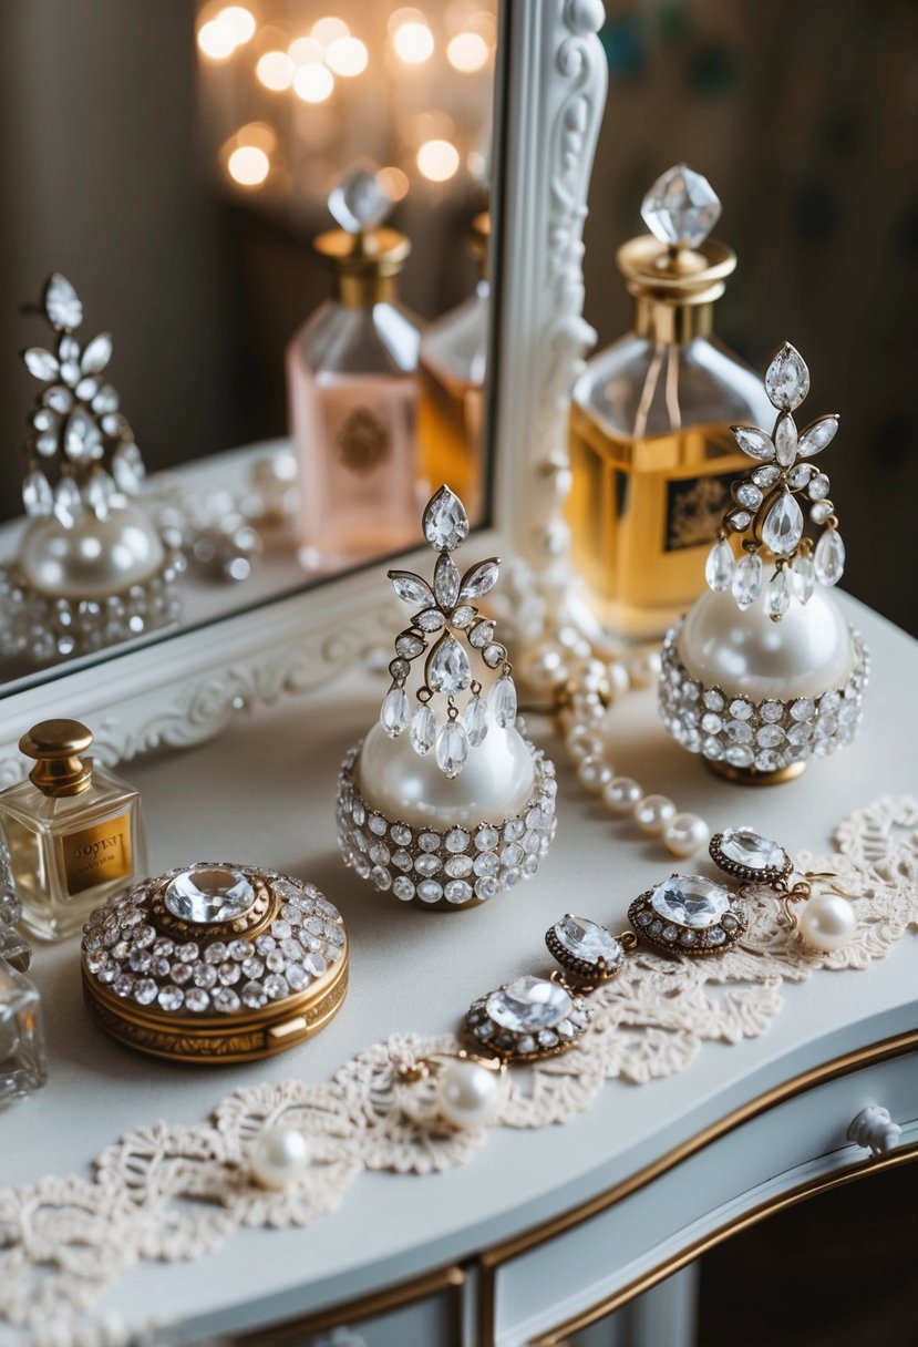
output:
M 182 616 L 175 582 L 184 564 L 180 551 L 167 548 L 157 574 L 104 599 L 51 598 L 17 566 L 0 566 L 0 655 L 52 664 L 171 626 Z

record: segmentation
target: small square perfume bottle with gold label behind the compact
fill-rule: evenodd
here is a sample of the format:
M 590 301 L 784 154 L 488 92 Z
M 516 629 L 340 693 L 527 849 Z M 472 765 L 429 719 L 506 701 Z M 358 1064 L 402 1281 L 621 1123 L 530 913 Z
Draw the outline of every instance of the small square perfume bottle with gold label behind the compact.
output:
M 82 756 L 92 742 L 78 721 L 43 721 L 19 741 L 36 760 L 28 780 L 0 792 L 23 925 L 42 940 L 74 935 L 147 869 L 140 796 Z

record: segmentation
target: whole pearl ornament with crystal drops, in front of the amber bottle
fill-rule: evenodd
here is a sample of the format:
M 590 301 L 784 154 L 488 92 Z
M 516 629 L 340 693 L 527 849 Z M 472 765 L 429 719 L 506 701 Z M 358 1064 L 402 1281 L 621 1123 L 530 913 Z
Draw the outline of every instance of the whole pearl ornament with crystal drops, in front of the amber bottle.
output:
M 812 462 L 835 439 L 839 418 L 797 431 L 793 412 L 809 384 L 800 352 L 785 343 L 765 376 L 774 430 L 734 427 L 756 466 L 734 484 L 735 504 L 707 559 L 708 591 L 664 644 L 666 729 L 735 781 L 790 780 L 812 757 L 849 744 L 861 718 L 868 657 L 832 597 L 844 544 L 829 478 Z M 800 497 L 822 529 L 814 547 Z M 739 559 L 731 535 L 743 540 Z

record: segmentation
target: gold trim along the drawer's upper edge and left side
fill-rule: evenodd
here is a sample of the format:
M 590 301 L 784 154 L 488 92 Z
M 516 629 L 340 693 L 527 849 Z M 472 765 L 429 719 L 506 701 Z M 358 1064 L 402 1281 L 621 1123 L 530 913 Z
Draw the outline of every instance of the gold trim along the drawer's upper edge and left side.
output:
M 742 1126 L 744 1122 L 750 1122 L 762 1113 L 767 1113 L 769 1109 L 774 1109 L 786 1099 L 793 1099 L 796 1095 L 804 1094 L 814 1086 L 826 1084 L 829 1080 L 851 1075 L 863 1065 L 886 1061 L 891 1057 L 905 1056 L 907 1052 L 913 1052 L 914 1049 L 918 1049 L 918 1029 L 909 1029 L 906 1033 L 895 1034 L 891 1039 L 883 1039 L 879 1043 L 871 1043 L 863 1048 L 853 1048 L 851 1052 L 843 1053 L 840 1057 L 833 1057 L 831 1061 L 821 1063 L 818 1067 L 810 1067 L 808 1071 L 804 1071 L 797 1076 L 791 1076 L 790 1080 L 773 1086 L 763 1094 L 756 1095 L 755 1099 L 740 1105 L 739 1109 L 735 1109 L 726 1117 L 719 1118 L 717 1122 L 704 1127 L 686 1141 L 680 1142 L 678 1146 L 674 1146 L 672 1150 L 666 1152 L 666 1154 L 651 1161 L 649 1165 L 645 1165 L 643 1169 L 638 1169 L 634 1175 L 630 1175 L 621 1183 L 614 1184 L 606 1192 L 599 1193 L 595 1197 L 590 1197 L 579 1207 L 572 1207 L 560 1216 L 552 1216 L 551 1220 L 546 1220 L 540 1226 L 533 1226 L 521 1235 L 514 1235 L 511 1239 L 506 1239 L 499 1245 L 494 1245 L 491 1249 L 483 1250 L 479 1255 L 481 1289 L 478 1301 L 478 1347 L 491 1347 L 494 1342 L 495 1274 L 497 1269 L 503 1263 L 507 1263 L 520 1254 L 534 1249 L 537 1245 L 545 1243 L 548 1239 L 553 1239 L 555 1235 L 564 1234 L 564 1231 L 572 1230 L 576 1226 L 592 1219 L 592 1216 L 596 1216 L 599 1212 L 612 1207 L 623 1197 L 629 1197 L 639 1188 L 653 1183 L 661 1175 L 673 1169 L 684 1160 L 688 1160 L 696 1152 L 703 1150 L 704 1146 L 711 1145 L 713 1141 L 719 1141 L 720 1137 L 726 1136 L 728 1131 Z M 909 1158 L 914 1158 L 911 1156 L 913 1149 L 914 1148 L 909 1148 Z M 901 1152 L 892 1152 L 892 1154 L 898 1156 Z M 884 1161 L 888 1161 L 890 1158 L 891 1157 L 888 1156 L 883 1157 Z M 875 1168 L 880 1168 L 882 1164 L 883 1161 L 878 1158 L 870 1158 L 859 1167 L 859 1169 L 853 1173 L 853 1177 L 857 1177 L 863 1171 L 872 1172 Z M 847 1172 L 851 1172 L 851 1169 Z M 676 1269 L 673 1268 L 672 1270 L 674 1272 Z M 634 1290 L 631 1294 L 637 1296 L 639 1294 L 639 1290 Z M 622 1301 L 622 1304 L 625 1301 Z

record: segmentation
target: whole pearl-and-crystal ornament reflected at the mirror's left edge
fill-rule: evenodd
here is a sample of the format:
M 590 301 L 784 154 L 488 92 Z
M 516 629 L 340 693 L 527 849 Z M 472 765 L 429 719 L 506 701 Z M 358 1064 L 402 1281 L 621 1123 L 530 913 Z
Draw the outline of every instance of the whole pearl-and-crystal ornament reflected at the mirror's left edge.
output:
M 55 349 L 23 352 L 46 387 L 26 440 L 23 504 L 28 524 L 15 562 L 0 568 L 8 653 L 51 663 L 176 620 L 174 583 L 183 558 L 168 529 L 129 500 L 144 465 L 120 399 L 105 379 L 112 337 L 81 346 L 83 306 L 54 272 L 42 311 Z

